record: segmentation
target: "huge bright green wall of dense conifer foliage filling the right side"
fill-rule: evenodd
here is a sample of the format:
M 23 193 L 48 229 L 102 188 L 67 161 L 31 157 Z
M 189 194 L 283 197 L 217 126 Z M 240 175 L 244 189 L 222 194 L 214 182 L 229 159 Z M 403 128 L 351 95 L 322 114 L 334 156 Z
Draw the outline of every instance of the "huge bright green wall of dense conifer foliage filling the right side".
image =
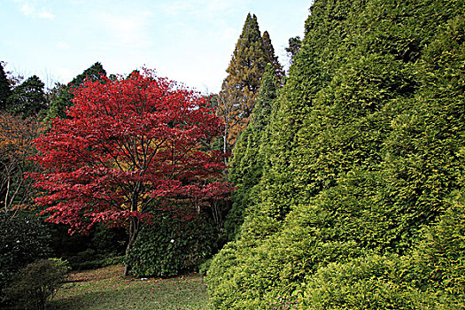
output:
M 463 12 L 315 1 L 213 306 L 465 307 Z

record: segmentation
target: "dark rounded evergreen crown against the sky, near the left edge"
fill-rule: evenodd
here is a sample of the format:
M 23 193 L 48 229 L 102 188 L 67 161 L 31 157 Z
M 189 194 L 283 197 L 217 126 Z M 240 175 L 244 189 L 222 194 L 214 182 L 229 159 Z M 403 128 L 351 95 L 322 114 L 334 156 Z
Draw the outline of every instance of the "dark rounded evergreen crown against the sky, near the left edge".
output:
M 6 110 L 21 115 L 24 119 L 37 116 L 47 108 L 43 81 L 33 75 L 12 90 L 8 97 Z

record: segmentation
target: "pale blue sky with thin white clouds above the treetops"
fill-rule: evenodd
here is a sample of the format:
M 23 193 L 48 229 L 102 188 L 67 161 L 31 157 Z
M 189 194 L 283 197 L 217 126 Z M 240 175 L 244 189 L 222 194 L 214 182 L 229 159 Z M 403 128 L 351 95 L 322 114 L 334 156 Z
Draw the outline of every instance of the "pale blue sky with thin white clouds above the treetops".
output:
M 304 34 L 305 0 L 0 0 L 0 60 L 50 86 L 100 61 L 108 74 L 145 66 L 187 87 L 221 89 L 248 12 L 283 65 Z

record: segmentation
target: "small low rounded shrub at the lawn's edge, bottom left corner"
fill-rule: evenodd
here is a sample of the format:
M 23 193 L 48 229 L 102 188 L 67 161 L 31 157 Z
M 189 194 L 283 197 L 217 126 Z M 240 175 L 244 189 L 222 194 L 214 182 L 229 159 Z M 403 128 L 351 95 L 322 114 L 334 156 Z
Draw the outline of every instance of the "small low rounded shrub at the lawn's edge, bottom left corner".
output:
M 45 309 L 64 284 L 68 270 L 63 260 L 37 260 L 20 269 L 4 293 L 15 306 Z

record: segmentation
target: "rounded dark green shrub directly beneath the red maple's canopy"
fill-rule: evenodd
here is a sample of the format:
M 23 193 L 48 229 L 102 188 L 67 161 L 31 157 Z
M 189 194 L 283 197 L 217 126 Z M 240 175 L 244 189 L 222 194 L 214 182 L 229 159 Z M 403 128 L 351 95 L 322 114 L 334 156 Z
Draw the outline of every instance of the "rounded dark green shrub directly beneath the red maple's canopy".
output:
M 144 225 L 129 254 L 136 276 L 174 276 L 193 270 L 213 255 L 218 229 L 198 215 L 178 218 L 159 212 L 152 225 Z

